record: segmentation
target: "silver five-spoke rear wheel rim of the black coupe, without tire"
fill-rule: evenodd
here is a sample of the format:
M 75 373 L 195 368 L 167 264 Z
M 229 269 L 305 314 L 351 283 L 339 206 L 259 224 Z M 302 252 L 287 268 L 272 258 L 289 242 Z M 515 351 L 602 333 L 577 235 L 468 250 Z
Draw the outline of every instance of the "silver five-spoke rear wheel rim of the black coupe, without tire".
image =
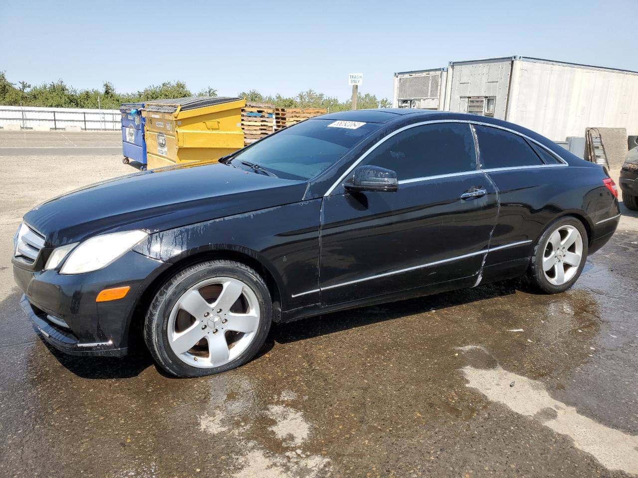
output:
M 582 261 L 582 236 L 574 226 L 565 225 L 556 229 L 543 254 L 545 279 L 554 286 L 569 282 L 578 271 Z

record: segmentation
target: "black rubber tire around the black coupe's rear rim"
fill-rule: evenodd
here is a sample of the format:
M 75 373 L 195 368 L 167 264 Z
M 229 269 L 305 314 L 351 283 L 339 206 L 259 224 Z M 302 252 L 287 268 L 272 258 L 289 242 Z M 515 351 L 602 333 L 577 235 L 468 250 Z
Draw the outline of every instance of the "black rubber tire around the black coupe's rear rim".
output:
M 579 264 L 574 274 L 574 277 L 572 277 L 572 279 L 565 282 L 565 284 L 556 286 L 552 284 L 551 282 L 549 282 L 549 280 L 547 280 L 547 277 L 545 277 L 545 272 L 542 267 L 543 257 L 545 254 L 545 246 L 547 245 L 547 241 L 549 240 L 549 237 L 554 233 L 554 231 L 557 231 L 561 227 L 567 226 L 567 225 L 574 226 L 574 228 L 576 228 L 581 234 L 581 237 L 582 237 L 581 263 Z M 565 217 L 561 217 L 560 219 L 556 219 L 556 221 L 552 222 L 551 224 L 549 224 L 549 226 L 547 226 L 544 233 L 542 233 L 540 238 L 538 238 L 538 242 L 536 243 L 534 247 L 533 256 L 531 257 L 530 268 L 528 269 L 526 279 L 528 280 L 528 282 L 530 283 L 532 287 L 534 287 L 538 291 L 545 294 L 558 294 L 558 293 L 567 291 L 567 289 L 569 289 L 570 287 L 574 285 L 574 282 L 578 280 L 578 278 L 580 277 L 582 273 L 582 269 L 584 268 L 585 263 L 587 261 L 588 244 L 589 244 L 589 238 L 587 235 L 587 231 L 582 225 L 581 221 L 579 221 L 573 216 L 565 216 Z

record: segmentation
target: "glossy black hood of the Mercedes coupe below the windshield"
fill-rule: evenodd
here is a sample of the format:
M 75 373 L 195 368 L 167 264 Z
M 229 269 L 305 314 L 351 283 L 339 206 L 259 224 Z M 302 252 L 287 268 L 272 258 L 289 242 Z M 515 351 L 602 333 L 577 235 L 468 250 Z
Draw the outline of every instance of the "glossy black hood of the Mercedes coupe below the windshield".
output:
M 24 221 L 47 247 L 100 233 L 153 233 L 301 201 L 304 181 L 290 181 L 212 162 L 145 171 L 89 185 L 37 206 Z

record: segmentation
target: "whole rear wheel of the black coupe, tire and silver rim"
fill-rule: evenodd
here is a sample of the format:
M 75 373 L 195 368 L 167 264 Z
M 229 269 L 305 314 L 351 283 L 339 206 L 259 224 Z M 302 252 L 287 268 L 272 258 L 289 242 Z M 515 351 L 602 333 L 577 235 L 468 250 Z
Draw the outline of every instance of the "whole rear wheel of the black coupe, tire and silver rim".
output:
M 585 265 L 587 231 L 575 217 L 561 217 L 540 236 L 531 259 L 528 279 L 540 291 L 556 294 L 574 285 Z

